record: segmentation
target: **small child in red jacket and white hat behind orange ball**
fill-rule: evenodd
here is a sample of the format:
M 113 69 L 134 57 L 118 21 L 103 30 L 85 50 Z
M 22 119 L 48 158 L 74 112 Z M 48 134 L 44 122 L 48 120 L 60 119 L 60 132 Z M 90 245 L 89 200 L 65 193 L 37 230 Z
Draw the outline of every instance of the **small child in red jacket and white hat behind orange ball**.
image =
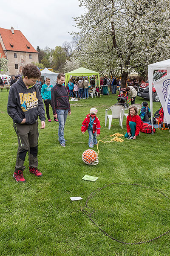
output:
M 99 118 L 96 116 L 96 113 L 97 109 L 91 108 L 90 114 L 88 114 L 82 122 L 82 134 L 84 134 L 85 131 L 88 130 L 88 145 L 90 148 L 93 148 L 94 145 L 97 145 L 96 137 L 98 137 L 100 134 L 100 121 Z

